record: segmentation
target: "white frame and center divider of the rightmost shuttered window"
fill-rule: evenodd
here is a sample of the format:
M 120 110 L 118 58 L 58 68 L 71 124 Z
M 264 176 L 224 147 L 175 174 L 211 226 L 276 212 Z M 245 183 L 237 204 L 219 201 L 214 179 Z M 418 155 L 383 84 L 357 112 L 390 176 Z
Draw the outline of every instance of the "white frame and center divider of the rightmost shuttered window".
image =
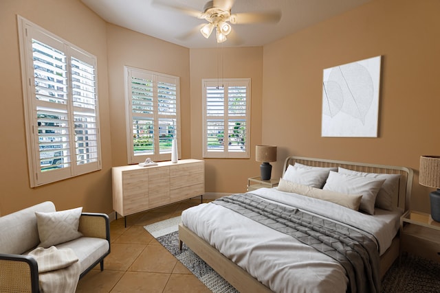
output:
M 206 159 L 250 159 L 250 106 L 251 106 L 251 79 L 250 78 L 225 78 L 225 79 L 202 79 L 202 115 L 203 115 L 203 139 L 202 139 L 202 155 L 203 158 Z M 229 87 L 231 86 L 239 86 L 245 87 L 246 89 L 246 106 L 245 106 L 245 115 L 242 115 L 241 118 L 245 119 L 245 142 L 244 147 L 245 150 L 243 152 L 232 151 L 229 148 L 229 145 L 223 144 L 223 151 L 210 151 L 208 149 L 208 106 L 207 106 L 207 89 L 208 87 L 221 87 L 223 89 L 228 89 L 229 95 Z M 223 91 L 223 115 L 216 115 L 217 119 L 223 119 L 223 139 L 225 130 L 228 129 L 228 121 L 236 120 L 236 116 L 229 115 L 228 113 L 228 99 L 224 97 L 225 91 Z M 229 135 L 228 135 L 229 137 Z

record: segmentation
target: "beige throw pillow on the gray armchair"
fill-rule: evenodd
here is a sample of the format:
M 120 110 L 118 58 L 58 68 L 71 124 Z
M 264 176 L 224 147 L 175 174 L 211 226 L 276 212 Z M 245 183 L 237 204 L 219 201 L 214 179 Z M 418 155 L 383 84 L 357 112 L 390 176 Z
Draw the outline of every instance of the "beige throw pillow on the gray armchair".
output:
M 83 234 L 78 232 L 78 226 L 82 212 L 83 207 L 52 213 L 36 211 L 36 224 L 41 242 L 39 246 L 48 248 L 81 237 Z

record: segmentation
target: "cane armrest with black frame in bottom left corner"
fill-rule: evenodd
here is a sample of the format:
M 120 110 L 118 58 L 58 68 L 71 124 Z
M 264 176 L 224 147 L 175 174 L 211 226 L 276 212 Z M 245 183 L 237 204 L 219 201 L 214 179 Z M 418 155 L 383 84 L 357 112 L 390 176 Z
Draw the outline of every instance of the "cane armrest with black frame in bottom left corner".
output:
M 0 292 L 38 293 L 39 267 L 28 255 L 0 253 Z

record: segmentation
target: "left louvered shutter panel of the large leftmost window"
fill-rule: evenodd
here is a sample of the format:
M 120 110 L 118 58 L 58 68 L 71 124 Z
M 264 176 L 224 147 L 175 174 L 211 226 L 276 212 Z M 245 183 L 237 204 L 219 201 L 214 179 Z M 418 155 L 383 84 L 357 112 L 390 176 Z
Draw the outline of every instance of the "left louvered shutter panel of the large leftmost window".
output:
M 69 168 L 67 57 L 63 51 L 39 40 L 32 39 L 31 42 L 35 99 L 32 108 L 36 108 L 39 171 Z M 62 43 L 59 45 L 63 46 Z

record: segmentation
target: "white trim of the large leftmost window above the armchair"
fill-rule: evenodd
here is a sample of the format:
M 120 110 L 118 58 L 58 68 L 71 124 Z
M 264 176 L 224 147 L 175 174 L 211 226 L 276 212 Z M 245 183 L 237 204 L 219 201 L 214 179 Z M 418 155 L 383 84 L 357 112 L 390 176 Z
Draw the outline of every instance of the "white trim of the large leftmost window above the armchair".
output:
M 30 176 L 30 186 L 38 187 L 48 183 L 54 183 L 58 180 L 64 180 L 87 174 L 89 172 L 95 172 L 102 169 L 101 165 L 101 151 L 100 151 L 100 127 L 99 127 L 99 105 L 98 105 L 98 74 L 96 66 L 96 56 L 93 56 L 87 51 L 76 47 L 72 43 L 67 42 L 43 29 L 39 25 L 36 25 L 27 19 L 17 15 L 17 23 L 19 27 L 19 47 L 20 47 L 20 60 L 21 60 L 21 78 L 23 89 L 23 105 L 24 105 L 24 118 L 25 118 L 25 137 L 26 148 L 28 152 L 28 169 Z M 61 169 L 52 169 L 50 171 L 41 172 L 40 165 L 40 151 L 39 151 L 39 134 L 38 124 L 36 121 L 36 106 L 35 100 L 35 86 L 34 86 L 34 63 L 32 57 L 32 37 L 30 35 L 41 36 L 41 42 L 45 40 L 51 43 L 58 43 L 60 48 L 63 48 L 63 52 L 66 53 L 67 58 L 78 58 L 82 61 L 87 60 L 89 64 L 94 66 L 95 69 L 95 95 L 96 95 L 96 143 L 97 143 L 97 156 L 95 162 L 86 163 L 84 165 L 76 165 L 76 143 L 75 143 L 75 131 L 74 131 L 74 113 L 72 102 L 72 85 L 70 81 L 70 70 L 72 67 L 67 67 L 67 86 L 69 88 L 67 109 L 69 119 L 69 144 L 71 162 L 70 167 L 63 167 Z M 70 61 L 69 61 L 70 62 Z

